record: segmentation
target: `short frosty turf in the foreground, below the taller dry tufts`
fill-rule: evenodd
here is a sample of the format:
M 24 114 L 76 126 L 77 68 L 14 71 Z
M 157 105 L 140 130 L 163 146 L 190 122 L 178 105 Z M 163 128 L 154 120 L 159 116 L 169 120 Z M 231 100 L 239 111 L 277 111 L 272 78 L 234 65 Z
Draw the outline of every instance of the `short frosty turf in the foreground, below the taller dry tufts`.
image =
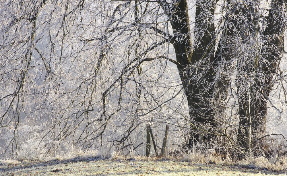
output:
M 22 161 L 0 164 L 0 175 L 286 175 L 287 171 L 248 169 L 221 164 L 196 164 L 175 159 Z

